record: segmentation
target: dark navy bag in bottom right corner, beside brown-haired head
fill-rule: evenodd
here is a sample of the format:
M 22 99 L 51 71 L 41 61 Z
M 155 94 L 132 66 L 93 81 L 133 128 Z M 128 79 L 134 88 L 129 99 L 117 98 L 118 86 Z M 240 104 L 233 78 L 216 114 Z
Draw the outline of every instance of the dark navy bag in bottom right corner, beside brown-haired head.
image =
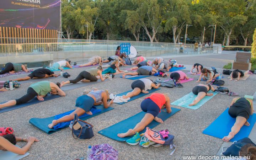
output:
M 223 155 L 225 156 L 239 156 L 239 151 L 240 149 L 246 145 L 246 144 L 253 144 L 255 145 L 250 138 L 243 138 L 243 139 L 240 139 L 238 141 L 235 141 L 231 146 L 224 146 L 224 147 L 228 147 L 228 149 L 226 149 L 226 151 L 224 152 L 223 151 L 223 148 L 222 148 L 222 151 L 223 151 Z M 256 146 L 256 145 L 255 145 Z

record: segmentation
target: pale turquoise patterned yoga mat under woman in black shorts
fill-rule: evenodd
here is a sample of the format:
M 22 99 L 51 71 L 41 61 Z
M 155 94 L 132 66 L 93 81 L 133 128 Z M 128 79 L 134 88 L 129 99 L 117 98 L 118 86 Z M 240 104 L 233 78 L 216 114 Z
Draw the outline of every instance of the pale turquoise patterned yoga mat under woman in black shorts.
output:
M 212 93 L 213 96 L 217 95 L 216 92 L 213 91 L 208 91 L 208 93 Z M 193 100 L 197 97 L 197 95 L 194 95 L 192 92 L 190 92 L 189 94 L 181 97 L 180 99 L 174 101 L 171 103 L 171 105 L 175 105 L 175 106 L 180 106 L 180 107 L 185 107 L 185 108 L 190 108 L 192 110 L 197 110 L 198 108 L 200 108 L 201 106 L 204 105 L 204 103 L 206 103 L 207 101 L 209 101 L 210 99 L 212 99 L 213 96 L 205 96 L 201 101 L 199 101 L 196 105 L 194 106 L 188 106 L 190 103 L 193 102 Z

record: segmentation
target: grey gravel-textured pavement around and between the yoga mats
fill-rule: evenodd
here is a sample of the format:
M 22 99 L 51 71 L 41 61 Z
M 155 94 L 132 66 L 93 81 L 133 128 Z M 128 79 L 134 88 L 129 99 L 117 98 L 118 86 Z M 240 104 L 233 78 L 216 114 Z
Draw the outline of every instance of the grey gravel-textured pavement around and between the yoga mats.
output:
M 166 58 L 168 59 L 168 58 Z M 231 62 L 234 59 L 232 54 L 219 54 L 219 55 L 202 55 L 194 57 L 177 57 L 175 58 L 180 64 L 201 63 L 204 66 L 215 66 L 216 68 L 222 68 L 227 62 Z M 89 68 L 89 67 L 88 67 Z M 81 71 L 87 68 L 75 68 L 66 70 L 71 74 L 71 78 L 75 78 Z M 183 70 L 185 73 L 190 70 Z M 59 72 L 56 72 L 59 73 Z M 6 78 L 0 78 L 0 80 L 14 79 L 16 77 L 22 77 L 24 75 L 9 76 Z M 197 75 L 189 75 L 191 78 L 197 79 Z M 240 96 L 253 95 L 256 86 L 249 85 L 255 83 L 255 75 L 251 75 L 246 81 L 228 81 L 225 78 L 225 85 L 231 91 L 238 92 Z M 155 77 L 149 77 L 149 79 L 155 80 Z M 51 79 L 52 82 L 61 82 L 67 80 L 65 78 Z M 141 112 L 140 102 L 146 97 L 138 98 L 132 102 L 128 102 L 124 105 L 113 104 L 111 107 L 114 110 L 100 114 L 96 117 L 90 118 L 87 121 L 94 125 L 95 136 L 91 139 L 86 140 L 75 140 L 71 136 L 71 130 L 65 128 L 59 132 L 55 132 L 48 135 L 36 127 L 32 126 L 28 121 L 30 118 L 44 118 L 50 117 L 55 114 L 60 114 L 69 110 L 73 110 L 76 107 L 75 100 L 77 97 L 82 95 L 82 91 L 86 88 L 97 87 L 102 90 L 109 90 L 110 93 L 118 94 L 124 91 L 130 90 L 130 85 L 133 80 L 121 79 L 119 75 L 116 75 L 112 81 L 106 81 L 98 83 L 97 85 L 90 85 L 81 87 L 74 90 L 66 91 L 68 94 L 66 97 L 60 97 L 54 100 L 38 103 L 23 107 L 17 110 L 1 113 L 0 121 L 1 127 L 10 126 L 14 128 L 16 136 L 27 137 L 35 136 L 40 141 L 32 145 L 29 150 L 30 155 L 24 158 L 27 159 L 49 159 L 49 160 L 72 160 L 79 158 L 83 155 L 86 156 L 87 146 L 96 145 L 102 143 L 108 143 L 113 148 L 119 151 L 120 160 L 141 160 L 141 159 L 171 159 L 171 160 L 182 160 L 182 156 L 186 155 L 215 155 L 223 141 L 221 139 L 211 137 L 202 134 L 202 131 L 209 126 L 225 109 L 229 106 L 233 97 L 228 95 L 217 94 L 206 104 L 204 104 L 198 110 L 190 110 L 178 106 L 172 106 L 180 108 L 181 111 L 177 112 L 174 116 L 171 116 L 164 123 L 159 124 L 154 129 L 162 130 L 169 129 L 170 133 L 175 136 L 174 143 L 177 146 L 175 153 L 170 156 L 171 150 L 169 146 L 161 146 L 154 148 L 139 148 L 139 146 L 131 146 L 124 142 L 117 142 L 109 139 L 97 132 L 101 129 L 107 128 L 115 123 L 118 123 L 134 114 Z M 22 87 L 13 91 L 1 92 L 0 102 L 12 100 L 21 97 L 26 94 L 27 88 L 32 83 L 22 84 Z M 156 91 L 159 93 L 168 93 L 171 102 L 181 98 L 192 91 L 193 87 L 198 83 L 194 81 L 183 84 L 183 88 L 165 88 Z M 118 133 L 118 132 L 117 132 Z M 19 142 L 18 145 L 24 146 L 25 143 Z

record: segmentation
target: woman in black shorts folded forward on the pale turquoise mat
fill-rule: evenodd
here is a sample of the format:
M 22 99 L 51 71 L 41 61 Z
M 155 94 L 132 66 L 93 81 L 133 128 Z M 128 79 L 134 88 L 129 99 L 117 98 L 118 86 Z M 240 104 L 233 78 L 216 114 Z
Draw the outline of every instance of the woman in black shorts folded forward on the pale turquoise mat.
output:
M 201 101 L 205 96 L 213 96 L 212 93 L 207 93 L 208 91 L 215 91 L 214 87 L 208 83 L 200 83 L 199 85 L 195 86 L 192 90 L 193 94 L 197 95 L 194 101 L 188 106 L 194 106 L 199 101 Z

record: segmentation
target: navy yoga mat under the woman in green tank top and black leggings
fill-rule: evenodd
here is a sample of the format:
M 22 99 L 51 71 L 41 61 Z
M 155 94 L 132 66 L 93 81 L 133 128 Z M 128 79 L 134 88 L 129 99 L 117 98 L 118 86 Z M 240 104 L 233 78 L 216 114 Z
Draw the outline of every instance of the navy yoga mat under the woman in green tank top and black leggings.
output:
M 60 97 L 60 95 L 47 94 L 43 98 L 44 98 L 44 101 L 48 101 L 48 100 L 52 100 L 52 99 L 59 98 L 59 97 Z M 23 103 L 23 104 L 20 104 L 20 105 L 14 105 L 14 106 L 2 108 L 2 109 L 0 109 L 0 113 L 4 113 L 4 112 L 7 112 L 7 111 L 11 111 L 11 110 L 16 110 L 18 108 L 34 105 L 34 104 L 41 103 L 41 102 L 44 102 L 44 101 L 39 101 L 37 99 L 37 97 L 34 97 L 32 100 L 28 101 L 27 103 Z M 1 102 L 1 104 L 2 103 L 5 103 L 5 102 Z

